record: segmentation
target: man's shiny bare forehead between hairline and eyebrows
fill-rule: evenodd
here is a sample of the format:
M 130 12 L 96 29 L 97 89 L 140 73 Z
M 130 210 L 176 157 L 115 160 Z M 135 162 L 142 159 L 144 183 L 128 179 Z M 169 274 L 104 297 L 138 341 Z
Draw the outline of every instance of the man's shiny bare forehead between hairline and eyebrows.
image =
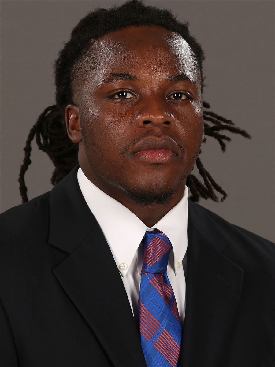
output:
M 200 82 L 196 59 L 180 34 L 160 26 L 130 26 L 105 34 L 95 42 L 99 79 L 111 72 L 132 72 L 140 76 L 186 73 Z M 97 75 L 97 76 L 96 76 Z

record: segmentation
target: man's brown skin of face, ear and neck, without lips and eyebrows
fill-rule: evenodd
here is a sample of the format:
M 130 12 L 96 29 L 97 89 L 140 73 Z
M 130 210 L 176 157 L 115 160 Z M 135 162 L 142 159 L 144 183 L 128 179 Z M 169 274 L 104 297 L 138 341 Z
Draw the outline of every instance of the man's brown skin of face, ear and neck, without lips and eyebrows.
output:
M 109 33 L 94 47 L 97 65 L 65 109 L 68 136 L 79 143 L 86 177 L 153 227 L 181 200 L 204 138 L 200 72 L 186 41 L 155 25 Z M 100 86 L 111 73 L 140 80 Z M 183 73 L 194 84 L 166 80 Z M 165 163 L 136 159 L 134 146 L 151 136 L 173 139 L 177 155 Z

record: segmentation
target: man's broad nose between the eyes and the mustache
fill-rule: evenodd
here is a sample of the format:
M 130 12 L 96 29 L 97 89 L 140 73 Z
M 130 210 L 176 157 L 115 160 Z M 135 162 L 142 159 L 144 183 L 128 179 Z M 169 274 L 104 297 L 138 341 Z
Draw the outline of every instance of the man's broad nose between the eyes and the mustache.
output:
M 144 128 L 147 125 L 152 126 L 164 126 L 166 128 L 171 128 L 175 123 L 174 116 L 165 110 L 162 102 L 148 101 L 145 105 L 142 106 L 136 117 L 136 124 L 140 128 Z

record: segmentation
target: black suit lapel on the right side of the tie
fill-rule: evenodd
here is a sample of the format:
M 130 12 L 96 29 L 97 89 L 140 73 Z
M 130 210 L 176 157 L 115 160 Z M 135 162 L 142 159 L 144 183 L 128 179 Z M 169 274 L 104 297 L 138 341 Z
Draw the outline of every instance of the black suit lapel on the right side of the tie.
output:
M 222 251 L 229 244 L 204 210 L 188 200 L 186 311 L 180 367 L 223 366 L 243 269 Z

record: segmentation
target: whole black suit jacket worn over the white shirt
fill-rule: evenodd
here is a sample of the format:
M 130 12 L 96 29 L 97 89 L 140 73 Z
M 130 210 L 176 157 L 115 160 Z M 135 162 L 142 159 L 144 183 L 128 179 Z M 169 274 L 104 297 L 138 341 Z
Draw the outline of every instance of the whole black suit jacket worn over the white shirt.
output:
M 146 366 L 78 167 L 1 214 L 1 367 Z M 180 366 L 275 366 L 275 245 L 188 199 L 187 259 Z

